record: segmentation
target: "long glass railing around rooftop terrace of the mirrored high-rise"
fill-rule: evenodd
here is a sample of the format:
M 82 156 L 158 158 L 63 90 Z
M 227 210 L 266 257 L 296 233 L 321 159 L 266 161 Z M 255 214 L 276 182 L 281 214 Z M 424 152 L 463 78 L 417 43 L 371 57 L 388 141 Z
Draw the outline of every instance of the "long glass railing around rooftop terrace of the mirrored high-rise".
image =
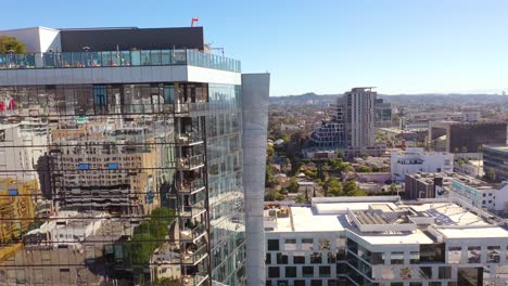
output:
M 240 73 L 240 61 L 194 50 L 0 54 L 0 69 L 190 65 Z

